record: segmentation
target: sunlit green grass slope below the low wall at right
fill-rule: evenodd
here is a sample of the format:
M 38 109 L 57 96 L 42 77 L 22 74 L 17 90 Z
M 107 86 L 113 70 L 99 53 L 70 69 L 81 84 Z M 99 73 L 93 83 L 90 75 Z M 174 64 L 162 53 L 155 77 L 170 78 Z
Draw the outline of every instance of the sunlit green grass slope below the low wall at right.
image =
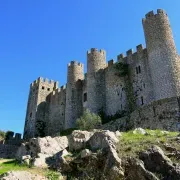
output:
M 140 151 L 146 150 L 152 145 L 158 145 L 163 149 L 164 143 L 172 144 L 172 142 L 170 142 L 171 139 L 178 135 L 177 132 L 164 134 L 161 130 L 146 129 L 146 132 L 146 135 L 133 134 L 133 131 L 122 133 L 122 137 L 120 137 L 120 142 L 117 146 L 120 157 L 137 157 Z M 180 147 L 176 142 L 174 142 L 174 145 Z

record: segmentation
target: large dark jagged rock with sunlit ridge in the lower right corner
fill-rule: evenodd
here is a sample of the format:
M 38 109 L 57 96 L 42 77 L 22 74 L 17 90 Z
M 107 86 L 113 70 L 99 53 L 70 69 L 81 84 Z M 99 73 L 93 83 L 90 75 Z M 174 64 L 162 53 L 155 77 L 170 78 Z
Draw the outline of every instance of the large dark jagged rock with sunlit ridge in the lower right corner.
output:
M 145 152 L 140 152 L 139 158 L 144 162 L 145 168 L 151 172 L 162 174 L 165 179 L 180 179 L 180 168 L 174 166 L 171 160 L 164 155 L 158 146 L 152 146 Z

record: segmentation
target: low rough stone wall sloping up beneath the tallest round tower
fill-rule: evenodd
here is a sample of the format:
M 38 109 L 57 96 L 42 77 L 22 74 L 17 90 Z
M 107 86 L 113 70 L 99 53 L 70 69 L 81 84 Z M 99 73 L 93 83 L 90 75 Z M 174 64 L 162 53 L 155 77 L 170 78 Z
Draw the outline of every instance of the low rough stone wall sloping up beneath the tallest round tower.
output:
M 179 109 L 176 97 L 163 99 L 142 106 L 129 116 L 104 124 L 102 128 L 111 131 L 127 131 L 138 127 L 178 131 Z

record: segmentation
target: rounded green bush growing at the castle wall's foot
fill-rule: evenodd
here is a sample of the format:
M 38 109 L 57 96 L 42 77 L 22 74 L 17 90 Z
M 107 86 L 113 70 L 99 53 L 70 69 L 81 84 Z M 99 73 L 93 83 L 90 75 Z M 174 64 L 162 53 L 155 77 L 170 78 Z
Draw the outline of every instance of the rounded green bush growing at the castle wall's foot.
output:
M 80 130 L 90 130 L 101 125 L 101 117 L 85 110 L 83 115 L 76 121 L 77 128 Z

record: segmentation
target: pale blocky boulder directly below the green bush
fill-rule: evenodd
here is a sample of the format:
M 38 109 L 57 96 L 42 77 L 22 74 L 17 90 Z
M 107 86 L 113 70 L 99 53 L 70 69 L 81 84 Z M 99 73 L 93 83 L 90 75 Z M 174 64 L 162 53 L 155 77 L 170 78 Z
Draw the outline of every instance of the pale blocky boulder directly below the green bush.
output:
M 94 134 L 94 132 L 88 131 L 80 131 L 75 130 L 68 137 L 69 139 L 69 150 L 77 151 L 84 149 L 86 147 L 86 142 L 90 139 L 90 137 Z

